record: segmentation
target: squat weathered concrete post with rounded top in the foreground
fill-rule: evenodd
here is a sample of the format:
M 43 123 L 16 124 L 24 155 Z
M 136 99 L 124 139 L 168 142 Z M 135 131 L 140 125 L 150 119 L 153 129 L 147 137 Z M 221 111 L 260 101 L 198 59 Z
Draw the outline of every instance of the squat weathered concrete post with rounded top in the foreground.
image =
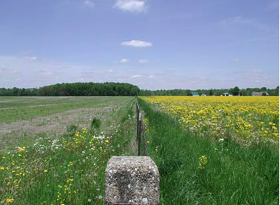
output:
M 150 157 L 112 157 L 105 171 L 105 203 L 160 204 L 160 174 Z

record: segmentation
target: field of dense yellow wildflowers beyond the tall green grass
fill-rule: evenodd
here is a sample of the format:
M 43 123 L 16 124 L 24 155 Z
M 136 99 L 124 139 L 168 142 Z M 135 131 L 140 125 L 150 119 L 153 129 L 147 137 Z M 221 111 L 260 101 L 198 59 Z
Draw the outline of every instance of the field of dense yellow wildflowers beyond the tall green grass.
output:
M 200 137 L 232 138 L 247 145 L 279 144 L 279 97 L 142 97 L 176 116 Z

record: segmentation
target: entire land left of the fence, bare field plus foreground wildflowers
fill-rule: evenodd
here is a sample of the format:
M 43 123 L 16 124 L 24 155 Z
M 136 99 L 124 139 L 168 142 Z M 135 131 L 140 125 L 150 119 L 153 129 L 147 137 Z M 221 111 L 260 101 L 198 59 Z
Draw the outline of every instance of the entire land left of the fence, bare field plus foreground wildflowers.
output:
M 104 204 L 109 158 L 134 155 L 133 102 L 1 97 L 0 204 Z

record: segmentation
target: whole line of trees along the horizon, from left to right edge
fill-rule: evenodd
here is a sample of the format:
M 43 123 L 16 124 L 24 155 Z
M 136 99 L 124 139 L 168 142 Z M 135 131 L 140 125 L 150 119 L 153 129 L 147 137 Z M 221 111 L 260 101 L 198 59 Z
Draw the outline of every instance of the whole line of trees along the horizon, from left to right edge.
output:
M 13 89 L 0 88 L 0 96 L 192 96 L 192 92 L 197 92 L 200 96 L 221 96 L 223 93 L 230 93 L 233 96 L 251 96 L 253 92 L 263 92 L 263 95 L 279 96 L 279 86 L 275 89 L 248 88 L 239 89 L 238 86 L 230 89 L 172 89 L 172 90 L 144 90 L 138 86 L 128 83 L 94 83 L 76 82 L 62 83 L 41 88 Z

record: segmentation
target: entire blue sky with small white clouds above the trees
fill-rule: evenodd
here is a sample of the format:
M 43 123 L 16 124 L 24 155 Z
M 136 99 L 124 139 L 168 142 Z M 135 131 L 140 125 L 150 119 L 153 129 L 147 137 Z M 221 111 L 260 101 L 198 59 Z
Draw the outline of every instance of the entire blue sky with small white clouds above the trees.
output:
M 279 86 L 276 0 L 2 0 L 0 87 Z

